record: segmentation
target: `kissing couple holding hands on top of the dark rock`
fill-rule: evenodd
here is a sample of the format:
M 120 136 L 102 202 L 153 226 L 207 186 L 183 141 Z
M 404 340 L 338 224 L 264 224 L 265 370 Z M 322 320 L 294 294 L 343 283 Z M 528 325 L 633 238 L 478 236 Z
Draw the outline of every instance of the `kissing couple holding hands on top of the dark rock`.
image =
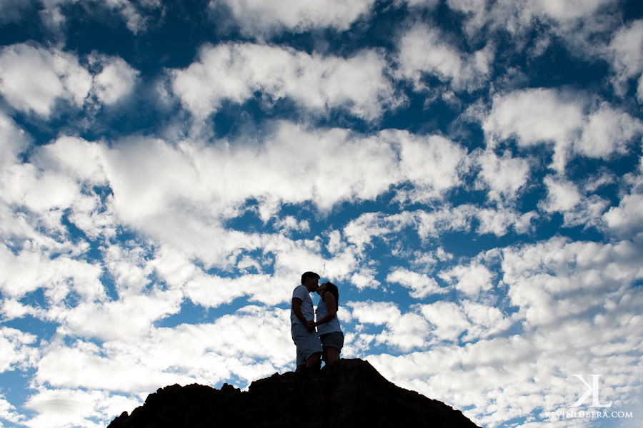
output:
M 310 292 L 319 295 L 316 320 Z M 319 275 L 304 272 L 301 285 L 292 292 L 290 323 L 292 340 L 297 347 L 297 368 L 321 367 L 321 355 L 326 364 L 339 360 L 344 346 L 344 333 L 339 325 L 339 291 L 332 282 L 319 285 Z

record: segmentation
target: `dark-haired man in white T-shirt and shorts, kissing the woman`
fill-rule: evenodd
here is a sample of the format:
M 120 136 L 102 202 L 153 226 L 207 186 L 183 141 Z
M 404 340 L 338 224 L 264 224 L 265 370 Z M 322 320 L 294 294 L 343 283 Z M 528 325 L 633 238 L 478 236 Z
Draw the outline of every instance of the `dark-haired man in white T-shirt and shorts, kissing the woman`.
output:
M 315 331 L 315 312 L 309 293 L 319 287 L 319 275 L 304 272 L 301 285 L 292 292 L 290 331 L 297 347 L 296 373 L 304 367 L 321 367 L 321 340 Z

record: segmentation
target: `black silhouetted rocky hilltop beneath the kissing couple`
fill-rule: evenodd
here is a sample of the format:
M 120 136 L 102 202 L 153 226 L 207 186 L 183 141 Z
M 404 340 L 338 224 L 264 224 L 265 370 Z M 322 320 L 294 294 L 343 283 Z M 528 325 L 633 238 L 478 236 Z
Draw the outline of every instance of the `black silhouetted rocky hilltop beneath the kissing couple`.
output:
M 477 425 L 442 402 L 397 387 L 368 362 L 339 360 L 317 372 L 273 374 L 248 392 L 172 385 L 149 394 L 108 428 L 445 427 Z

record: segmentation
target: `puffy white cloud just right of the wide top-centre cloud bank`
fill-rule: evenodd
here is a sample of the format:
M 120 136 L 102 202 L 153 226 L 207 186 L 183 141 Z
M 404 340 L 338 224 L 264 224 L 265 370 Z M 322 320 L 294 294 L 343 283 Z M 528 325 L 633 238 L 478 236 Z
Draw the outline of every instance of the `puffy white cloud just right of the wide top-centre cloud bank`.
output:
M 455 91 L 472 91 L 487 80 L 494 53 L 489 47 L 465 54 L 446 41 L 437 29 L 416 24 L 399 41 L 399 71 L 417 90 L 426 87 L 429 73 L 450 83 Z

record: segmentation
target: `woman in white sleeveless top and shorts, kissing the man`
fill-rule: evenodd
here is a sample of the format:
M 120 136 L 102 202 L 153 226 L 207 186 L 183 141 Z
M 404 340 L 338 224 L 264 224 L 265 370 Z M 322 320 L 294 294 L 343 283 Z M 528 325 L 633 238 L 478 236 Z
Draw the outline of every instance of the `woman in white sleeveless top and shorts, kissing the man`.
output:
M 317 303 L 315 327 L 324 348 L 324 361 L 329 364 L 339 360 L 344 346 L 344 333 L 337 318 L 339 290 L 332 282 L 324 282 L 315 291 L 321 296 Z

